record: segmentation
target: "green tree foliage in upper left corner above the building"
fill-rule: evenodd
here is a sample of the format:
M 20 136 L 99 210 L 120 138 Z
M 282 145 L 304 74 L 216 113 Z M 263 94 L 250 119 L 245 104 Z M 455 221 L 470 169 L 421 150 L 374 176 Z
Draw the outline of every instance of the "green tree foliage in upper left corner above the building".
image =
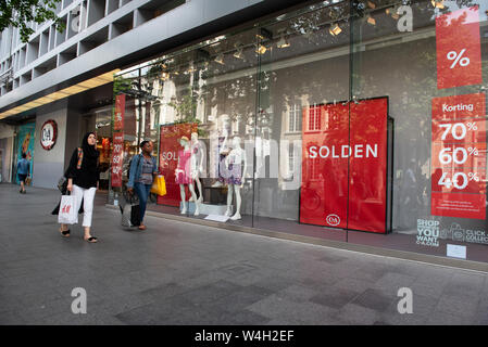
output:
M 27 42 L 34 29 L 29 22 L 42 24 L 53 21 L 58 31 L 65 28 L 64 22 L 54 13 L 61 0 L 1 0 L 0 1 L 0 33 L 9 26 L 20 29 L 22 42 Z

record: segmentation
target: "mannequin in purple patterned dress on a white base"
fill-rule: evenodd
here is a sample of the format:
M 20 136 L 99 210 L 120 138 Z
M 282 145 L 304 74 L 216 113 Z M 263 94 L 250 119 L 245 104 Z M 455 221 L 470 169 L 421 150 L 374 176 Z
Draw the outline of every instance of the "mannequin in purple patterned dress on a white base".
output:
M 245 174 L 247 169 L 247 159 L 246 159 L 246 151 L 240 146 L 240 138 L 235 137 L 233 139 L 233 150 L 229 152 L 225 159 L 226 168 L 227 168 L 227 178 L 225 182 L 228 184 L 227 191 L 227 210 L 225 211 L 225 216 L 230 216 L 230 206 L 233 204 L 233 194 L 236 192 L 236 213 L 230 217 L 232 220 L 241 219 L 240 216 L 240 206 L 241 206 L 241 196 L 240 189 L 243 187 L 245 182 Z M 243 169 L 241 168 L 243 162 Z

